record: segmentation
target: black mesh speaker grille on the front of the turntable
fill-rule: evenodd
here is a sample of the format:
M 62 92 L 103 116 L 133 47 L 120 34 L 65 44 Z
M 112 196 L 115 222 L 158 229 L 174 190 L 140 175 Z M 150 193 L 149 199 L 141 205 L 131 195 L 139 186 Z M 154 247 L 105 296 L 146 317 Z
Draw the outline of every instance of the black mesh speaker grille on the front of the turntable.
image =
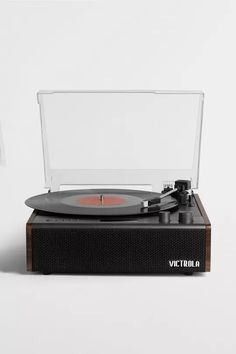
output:
M 199 261 L 171 268 L 169 260 Z M 204 271 L 204 229 L 39 228 L 32 230 L 33 270 L 56 273 Z

